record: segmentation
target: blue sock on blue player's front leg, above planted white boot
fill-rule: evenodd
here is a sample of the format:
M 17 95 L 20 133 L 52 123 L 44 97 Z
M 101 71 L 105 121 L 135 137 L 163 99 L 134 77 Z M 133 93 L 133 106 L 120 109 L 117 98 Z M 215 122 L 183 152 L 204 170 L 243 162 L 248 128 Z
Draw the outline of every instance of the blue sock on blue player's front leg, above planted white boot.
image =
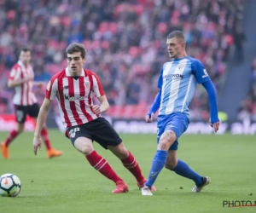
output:
M 146 186 L 152 187 L 154 181 L 166 164 L 167 159 L 167 151 L 165 150 L 157 150 L 154 159 L 152 162 L 151 170 L 148 175 L 148 181 L 145 183 Z

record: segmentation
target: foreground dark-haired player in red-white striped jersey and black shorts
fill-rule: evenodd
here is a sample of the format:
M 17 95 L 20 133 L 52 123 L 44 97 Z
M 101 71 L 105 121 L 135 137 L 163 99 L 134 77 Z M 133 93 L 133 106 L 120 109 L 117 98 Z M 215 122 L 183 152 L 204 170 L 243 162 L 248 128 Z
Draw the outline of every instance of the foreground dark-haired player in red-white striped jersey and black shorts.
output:
M 109 104 L 96 73 L 83 69 L 86 51 L 83 44 L 72 43 L 67 47 L 67 68 L 50 79 L 44 103 L 40 108 L 33 146 L 37 155 L 41 147 L 39 132 L 42 130 L 49 107 L 56 97 L 66 135 L 73 146 L 83 153 L 90 165 L 116 184 L 113 193 L 126 193 L 128 187 L 102 158 L 92 145 L 98 142 L 116 155 L 131 174 L 137 179 L 137 186 L 143 187 L 146 179 L 133 155 L 125 148 L 118 133 L 101 113 L 108 111 Z M 101 106 L 94 105 L 92 96 L 96 95 Z

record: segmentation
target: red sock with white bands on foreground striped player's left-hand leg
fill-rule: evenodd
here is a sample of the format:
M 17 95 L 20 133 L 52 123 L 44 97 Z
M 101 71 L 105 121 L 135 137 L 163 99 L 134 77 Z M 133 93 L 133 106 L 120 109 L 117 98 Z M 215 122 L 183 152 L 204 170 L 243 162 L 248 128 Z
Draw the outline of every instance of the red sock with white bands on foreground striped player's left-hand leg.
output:
M 96 169 L 97 171 L 101 172 L 103 176 L 106 176 L 108 179 L 117 182 L 123 181 L 111 168 L 108 164 L 107 160 L 102 158 L 102 156 L 98 155 L 96 151 L 93 151 L 89 155 L 86 156 L 87 160 L 89 161 L 90 165 Z

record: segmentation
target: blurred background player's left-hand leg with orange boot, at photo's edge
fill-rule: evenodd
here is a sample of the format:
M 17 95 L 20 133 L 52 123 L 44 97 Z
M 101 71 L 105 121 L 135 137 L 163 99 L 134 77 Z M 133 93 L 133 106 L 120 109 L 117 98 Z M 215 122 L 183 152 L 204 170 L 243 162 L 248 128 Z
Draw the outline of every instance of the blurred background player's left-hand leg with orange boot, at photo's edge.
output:
M 11 130 L 7 138 L 1 143 L 1 149 L 3 158 L 9 158 L 9 144 L 15 140 L 15 138 L 20 135 L 24 130 L 24 123 L 26 121 L 26 107 L 15 106 L 15 118 L 16 118 L 16 128 Z

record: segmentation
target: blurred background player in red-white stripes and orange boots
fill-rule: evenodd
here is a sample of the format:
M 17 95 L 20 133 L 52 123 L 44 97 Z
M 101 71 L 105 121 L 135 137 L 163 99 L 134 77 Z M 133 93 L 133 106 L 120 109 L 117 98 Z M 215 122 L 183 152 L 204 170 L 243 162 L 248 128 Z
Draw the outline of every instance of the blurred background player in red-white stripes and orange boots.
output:
M 6 140 L 1 144 L 3 158 L 9 158 L 9 144 L 23 131 L 26 115 L 35 119 L 38 117 L 39 106 L 32 87 L 33 85 L 39 86 L 42 83 L 33 82 L 34 72 L 30 65 L 30 60 L 31 51 L 29 49 L 22 49 L 20 51 L 20 60 L 13 66 L 9 74 L 8 86 L 9 88 L 15 89 L 13 103 L 15 105 L 17 127 L 9 133 Z M 40 135 L 44 139 L 48 158 L 57 157 L 62 154 L 51 147 L 48 130 L 45 125 Z

